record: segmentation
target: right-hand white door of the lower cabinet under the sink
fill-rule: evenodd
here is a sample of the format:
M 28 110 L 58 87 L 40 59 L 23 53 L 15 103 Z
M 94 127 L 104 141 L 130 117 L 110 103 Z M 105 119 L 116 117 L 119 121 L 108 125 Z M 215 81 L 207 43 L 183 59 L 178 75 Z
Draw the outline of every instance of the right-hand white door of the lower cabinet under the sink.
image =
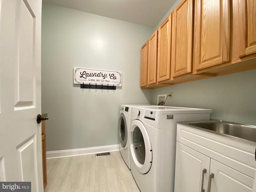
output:
M 252 192 L 253 178 L 213 159 L 210 173 L 214 174 L 214 178 L 208 192 Z

